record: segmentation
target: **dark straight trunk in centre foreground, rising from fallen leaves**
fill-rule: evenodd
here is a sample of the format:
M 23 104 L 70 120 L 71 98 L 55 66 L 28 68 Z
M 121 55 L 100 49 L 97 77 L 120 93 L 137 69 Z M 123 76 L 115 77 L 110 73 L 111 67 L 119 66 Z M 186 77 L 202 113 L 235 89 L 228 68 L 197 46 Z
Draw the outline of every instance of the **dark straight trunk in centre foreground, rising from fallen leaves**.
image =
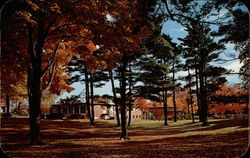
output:
M 127 67 L 127 59 L 124 54 L 122 57 L 122 65 L 121 65 L 121 139 L 129 139 L 128 131 L 127 131 L 127 106 L 126 106 L 126 67 Z

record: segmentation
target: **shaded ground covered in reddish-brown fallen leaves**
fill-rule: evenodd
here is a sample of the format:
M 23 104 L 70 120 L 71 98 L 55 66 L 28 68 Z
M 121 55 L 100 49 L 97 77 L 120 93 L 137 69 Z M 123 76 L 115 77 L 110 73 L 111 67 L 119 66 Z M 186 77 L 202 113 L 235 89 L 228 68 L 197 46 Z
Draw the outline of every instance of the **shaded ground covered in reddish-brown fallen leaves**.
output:
M 1 147 L 20 158 L 195 158 L 240 157 L 248 147 L 248 120 L 133 121 L 130 140 L 119 140 L 114 120 L 41 120 L 43 145 L 29 146 L 26 118 L 1 119 Z

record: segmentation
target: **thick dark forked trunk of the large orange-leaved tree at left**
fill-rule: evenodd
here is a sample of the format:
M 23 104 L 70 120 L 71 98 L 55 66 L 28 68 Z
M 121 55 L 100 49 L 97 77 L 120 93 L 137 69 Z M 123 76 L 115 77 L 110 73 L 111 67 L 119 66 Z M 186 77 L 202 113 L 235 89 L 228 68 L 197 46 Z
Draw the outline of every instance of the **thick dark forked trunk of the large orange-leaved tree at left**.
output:
M 28 96 L 29 96 L 29 121 L 30 121 L 30 144 L 42 144 L 40 136 L 40 114 L 41 114 L 41 77 L 42 77 L 42 52 L 45 41 L 45 30 L 42 18 L 38 21 L 37 41 L 35 49 L 33 46 L 33 32 L 29 29 L 30 64 L 28 65 Z

